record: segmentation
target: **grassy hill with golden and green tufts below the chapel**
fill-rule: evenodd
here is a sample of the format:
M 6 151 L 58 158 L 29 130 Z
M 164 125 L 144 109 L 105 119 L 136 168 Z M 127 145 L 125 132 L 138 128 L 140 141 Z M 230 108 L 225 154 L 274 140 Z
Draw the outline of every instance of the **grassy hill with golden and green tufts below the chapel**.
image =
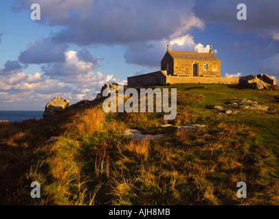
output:
M 0 123 L 1 205 L 279 205 L 279 90 L 182 84 L 177 118 L 164 113 L 87 109 L 23 123 Z M 269 110 L 219 115 L 249 99 Z M 202 129 L 161 124 L 201 124 Z M 135 141 L 126 129 L 164 134 Z M 54 141 L 46 141 L 58 136 Z M 41 184 L 31 198 L 30 184 Z M 236 184 L 247 183 L 247 198 Z

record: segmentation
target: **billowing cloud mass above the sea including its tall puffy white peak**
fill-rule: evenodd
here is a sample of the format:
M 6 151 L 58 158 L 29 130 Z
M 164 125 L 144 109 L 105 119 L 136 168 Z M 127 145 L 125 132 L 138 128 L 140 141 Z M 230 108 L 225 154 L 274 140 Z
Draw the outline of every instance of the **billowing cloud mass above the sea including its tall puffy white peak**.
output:
M 32 75 L 21 70 L 0 72 L 0 106 L 6 103 L 14 105 L 36 105 L 43 110 L 45 104 L 55 96 L 71 100 L 71 104 L 82 99 L 95 99 L 104 83 L 126 81 L 115 79 L 113 75 L 103 75 L 94 70 L 100 60 L 90 55 L 86 49 L 81 52 L 66 51 L 65 62 L 47 64 L 45 73 Z M 41 107 L 41 108 L 40 108 Z

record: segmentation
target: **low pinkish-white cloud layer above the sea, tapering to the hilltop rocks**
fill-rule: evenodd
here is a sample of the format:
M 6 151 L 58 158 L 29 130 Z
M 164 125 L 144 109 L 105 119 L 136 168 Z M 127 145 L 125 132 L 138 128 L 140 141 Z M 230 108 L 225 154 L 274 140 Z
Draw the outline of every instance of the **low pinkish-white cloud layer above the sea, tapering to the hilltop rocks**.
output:
M 43 110 L 45 104 L 55 96 L 63 96 L 70 99 L 71 104 L 81 99 L 94 99 L 96 97 L 96 88 L 100 88 L 106 79 L 111 77 L 103 77 L 102 81 L 96 81 L 96 85 L 91 89 L 80 89 L 69 83 L 57 81 L 56 79 L 48 79 L 40 73 L 28 75 L 23 72 L 10 73 L 0 76 L 0 105 L 1 108 L 6 107 L 6 103 L 13 105 L 24 105 L 26 108 L 30 105 L 36 105 L 36 110 Z M 115 81 L 117 81 L 115 79 Z M 86 81 L 85 81 L 86 83 Z

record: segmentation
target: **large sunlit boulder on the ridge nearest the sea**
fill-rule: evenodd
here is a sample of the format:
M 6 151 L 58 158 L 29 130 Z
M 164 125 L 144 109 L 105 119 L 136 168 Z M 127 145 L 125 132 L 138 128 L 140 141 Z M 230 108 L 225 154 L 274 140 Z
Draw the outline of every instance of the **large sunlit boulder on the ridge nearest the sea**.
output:
M 63 97 L 55 97 L 52 101 L 49 101 L 45 105 L 45 112 L 43 116 L 52 116 L 57 112 L 61 112 L 69 107 L 69 100 L 64 99 Z

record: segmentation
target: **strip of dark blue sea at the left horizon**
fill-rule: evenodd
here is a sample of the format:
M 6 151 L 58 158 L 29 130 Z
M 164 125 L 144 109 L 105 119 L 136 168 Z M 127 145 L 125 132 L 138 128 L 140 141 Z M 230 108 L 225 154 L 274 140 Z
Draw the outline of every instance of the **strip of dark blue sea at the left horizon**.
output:
M 0 110 L 0 120 L 8 120 L 10 123 L 41 118 L 43 118 L 43 111 Z

